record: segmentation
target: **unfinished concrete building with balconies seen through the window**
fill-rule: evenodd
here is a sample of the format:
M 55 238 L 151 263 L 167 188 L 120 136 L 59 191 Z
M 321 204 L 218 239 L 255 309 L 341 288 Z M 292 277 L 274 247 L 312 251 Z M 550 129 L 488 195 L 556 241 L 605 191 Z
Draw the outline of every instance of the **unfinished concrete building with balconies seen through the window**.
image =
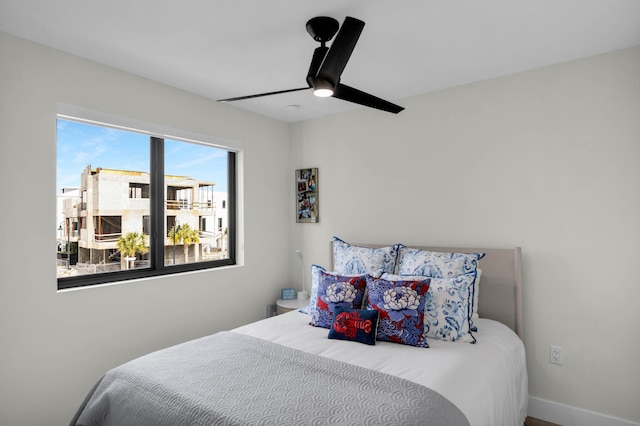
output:
M 214 182 L 188 176 L 165 176 L 165 264 L 226 256 L 226 193 L 214 193 L 214 186 Z M 94 169 L 89 165 L 82 171 L 81 186 L 73 195 L 68 194 L 59 203 L 63 226 L 58 241 L 60 247 L 61 240 L 69 236 L 77 244 L 77 265 L 75 259 L 71 265 L 78 273 L 119 270 L 117 241 L 122 235 L 137 232 L 149 243 L 149 173 Z M 222 214 L 217 214 L 218 207 Z M 188 247 L 187 259 L 181 242 L 174 245 L 168 238 L 176 224 L 189 225 L 199 232 L 200 242 Z M 148 257 L 138 255 L 136 266 L 144 266 Z

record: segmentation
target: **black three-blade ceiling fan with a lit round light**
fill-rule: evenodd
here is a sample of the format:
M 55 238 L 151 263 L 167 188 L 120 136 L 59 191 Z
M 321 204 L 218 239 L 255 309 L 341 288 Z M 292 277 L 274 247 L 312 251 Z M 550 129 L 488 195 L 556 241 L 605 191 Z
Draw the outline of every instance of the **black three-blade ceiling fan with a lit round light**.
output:
M 338 31 L 340 28 L 340 31 Z M 278 95 L 281 93 L 297 92 L 313 89 L 313 93 L 320 97 L 333 96 L 348 102 L 376 108 L 382 111 L 399 113 L 404 108 L 380 99 L 376 96 L 354 89 L 340 82 L 342 71 L 347 65 L 351 53 L 358 42 L 360 33 L 364 28 L 364 22 L 347 16 L 339 27 L 338 21 L 328 16 L 311 18 L 307 22 L 307 32 L 315 40 L 320 42 L 313 52 L 311 66 L 307 73 L 307 86 L 297 89 L 279 90 L 276 92 L 259 93 L 256 95 L 239 96 L 237 98 L 220 99 L 218 102 L 233 102 L 244 99 L 259 98 L 263 96 Z M 336 35 L 337 33 L 337 35 Z M 326 43 L 336 36 L 331 48 Z

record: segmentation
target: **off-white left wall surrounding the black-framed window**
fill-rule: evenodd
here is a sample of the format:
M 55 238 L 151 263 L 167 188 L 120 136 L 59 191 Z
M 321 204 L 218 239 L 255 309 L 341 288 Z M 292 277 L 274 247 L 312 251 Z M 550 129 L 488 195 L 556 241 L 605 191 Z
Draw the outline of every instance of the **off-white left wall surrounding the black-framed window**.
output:
M 106 369 L 264 318 L 293 261 L 289 126 L 3 34 L 0 57 L 0 424 L 63 425 Z M 242 145 L 245 265 L 57 293 L 58 102 Z

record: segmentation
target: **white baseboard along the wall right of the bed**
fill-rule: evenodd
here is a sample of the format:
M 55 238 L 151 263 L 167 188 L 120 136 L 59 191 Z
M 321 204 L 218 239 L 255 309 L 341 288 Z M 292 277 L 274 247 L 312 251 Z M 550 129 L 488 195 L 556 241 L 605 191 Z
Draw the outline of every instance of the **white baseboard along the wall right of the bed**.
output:
M 533 396 L 529 397 L 527 415 L 562 426 L 640 426 L 640 423 L 570 407 Z

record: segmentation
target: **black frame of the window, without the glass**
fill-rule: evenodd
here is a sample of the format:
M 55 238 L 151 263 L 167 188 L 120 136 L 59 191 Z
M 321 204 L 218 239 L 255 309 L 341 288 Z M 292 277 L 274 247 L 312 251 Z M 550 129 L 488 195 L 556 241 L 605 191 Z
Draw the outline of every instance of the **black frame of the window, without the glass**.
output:
M 69 118 L 64 118 L 65 120 Z M 175 138 L 172 138 L 174 140 Z M 179 139 L 176 139 L 179 140 Z M 185 142 L 189 143 L 189 142 Z M 183 272 L 214 269 L 223 266 L 236 265 L 237 238 L 237 155 L 228 148 L 227 151 L 227 221 L 228 221 L 228 258 L 209 261 L 199 261 L 179 265 L 164 264 L 164 138 L 150 136 L 150 266 L 148 268 L 130 269 L 124 271 L 102 272 L 96 274 L 59 277 L 58 290 L 90 287 L 100 284 L 116 283 L 141 278 L 158 277 Z

